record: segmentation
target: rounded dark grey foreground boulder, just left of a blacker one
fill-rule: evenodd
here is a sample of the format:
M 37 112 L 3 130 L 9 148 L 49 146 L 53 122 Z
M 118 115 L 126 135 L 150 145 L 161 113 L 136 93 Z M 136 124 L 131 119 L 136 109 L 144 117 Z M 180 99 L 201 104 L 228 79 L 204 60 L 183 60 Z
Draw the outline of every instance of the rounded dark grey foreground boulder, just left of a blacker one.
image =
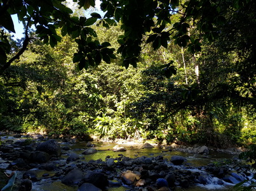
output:
M 64 178 L 62 178 L 62 183 L 69 186 L 78 185 L 82 182 L 83 178 L 83 171 L 80 169 L 72 169 L 69 171 L 69 173 L 67 173 L 67 175 L 64 176 Z

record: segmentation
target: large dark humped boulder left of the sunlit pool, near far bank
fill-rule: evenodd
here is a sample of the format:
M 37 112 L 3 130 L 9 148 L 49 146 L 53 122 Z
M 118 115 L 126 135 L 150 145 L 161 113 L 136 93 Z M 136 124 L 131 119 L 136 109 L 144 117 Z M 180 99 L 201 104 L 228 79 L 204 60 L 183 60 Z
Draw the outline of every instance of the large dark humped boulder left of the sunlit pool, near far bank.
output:
M 47 140 L 36 147 L 36 151 L 44 151 L 55 156 L 60 156 L 60 150 L 60 145 L 55 140 Z

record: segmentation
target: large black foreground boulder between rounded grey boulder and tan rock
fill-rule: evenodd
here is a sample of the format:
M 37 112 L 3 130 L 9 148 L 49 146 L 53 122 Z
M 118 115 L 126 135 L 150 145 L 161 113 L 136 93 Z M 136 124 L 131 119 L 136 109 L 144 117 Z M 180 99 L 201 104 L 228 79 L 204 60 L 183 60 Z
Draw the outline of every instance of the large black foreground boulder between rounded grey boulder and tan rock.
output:
M 105 189 L 109 185 L 107 176 L 104 173 L 89 172 L 84 176 L 84 182 L 92 183 L 95 187 Z

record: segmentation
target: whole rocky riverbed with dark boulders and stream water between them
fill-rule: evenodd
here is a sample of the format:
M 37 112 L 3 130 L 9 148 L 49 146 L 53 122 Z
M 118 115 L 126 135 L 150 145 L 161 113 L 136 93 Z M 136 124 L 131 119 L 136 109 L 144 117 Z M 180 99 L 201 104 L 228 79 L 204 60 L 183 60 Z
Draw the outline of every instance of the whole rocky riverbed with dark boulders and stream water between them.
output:
M 124 140 L 103 144 L 45 139 L 42 135 L 2 136 L 1 142 L 1 174 L 11 168 L 18 172 L 13 190 L 18 190 L 26 174 L 31 176 L 33 190 L 42 191 L 148 190 L 156 186 L 158 178 L 165 178 L 172 190 L 225 190 L 253 176 L 246 165 L 238 165 L 241 149 L 235 148 L 158 146 Z M 223 153 L 229 157 L 212 160 L 213 152 L 213 157 Z M 93 159 L 95 155 L 97 159 Z M 193 159 L 207 163 L 191 163 Z

